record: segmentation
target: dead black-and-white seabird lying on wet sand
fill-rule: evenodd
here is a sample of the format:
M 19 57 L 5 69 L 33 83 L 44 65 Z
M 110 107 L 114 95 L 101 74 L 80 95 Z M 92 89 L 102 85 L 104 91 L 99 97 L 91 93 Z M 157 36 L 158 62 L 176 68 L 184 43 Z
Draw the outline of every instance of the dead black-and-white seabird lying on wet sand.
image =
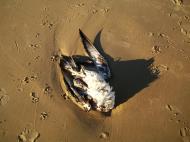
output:
M 79 34 L 88 56 L 61 53 L 62 88 L 80 108 L 108 112 L 115 104 L 115 92 L 107 81 L 111 77 L 108 63 L 80 29 Z

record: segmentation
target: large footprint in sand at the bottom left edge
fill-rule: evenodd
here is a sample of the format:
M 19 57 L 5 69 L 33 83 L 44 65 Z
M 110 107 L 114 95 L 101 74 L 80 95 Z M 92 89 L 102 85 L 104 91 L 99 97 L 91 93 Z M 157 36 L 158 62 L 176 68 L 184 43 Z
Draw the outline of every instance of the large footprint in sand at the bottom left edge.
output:
M 39 136 L 40 133 L 36 130 L 25 128 L 24 131 L 18 135 L 18 142 L 36 142 Z

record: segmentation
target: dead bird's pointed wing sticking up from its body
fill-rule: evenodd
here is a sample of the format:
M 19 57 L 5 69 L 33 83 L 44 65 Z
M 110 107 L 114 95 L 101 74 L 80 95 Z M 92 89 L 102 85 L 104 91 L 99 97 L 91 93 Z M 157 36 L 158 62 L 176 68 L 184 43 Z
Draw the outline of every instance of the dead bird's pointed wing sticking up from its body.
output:
M 96 47 L 80 29 L 79 34 L 84 45 L 84 49 L 88 56 L 93 60 L 97 70 L 106 80 L 109 79 L 111 77 L 111 73 L 106 59 L 100 54 L 100 52 L 98 52 Z

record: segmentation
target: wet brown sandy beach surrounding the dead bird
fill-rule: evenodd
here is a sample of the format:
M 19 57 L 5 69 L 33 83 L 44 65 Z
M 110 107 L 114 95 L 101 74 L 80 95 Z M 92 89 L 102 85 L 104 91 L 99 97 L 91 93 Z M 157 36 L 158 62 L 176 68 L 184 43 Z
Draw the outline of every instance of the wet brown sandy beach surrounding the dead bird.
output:
M 108 60 L 109 114 L 84 112 L 54 55 Z M 189 0 L 0 0 L 0 142 L 190 142 Z

